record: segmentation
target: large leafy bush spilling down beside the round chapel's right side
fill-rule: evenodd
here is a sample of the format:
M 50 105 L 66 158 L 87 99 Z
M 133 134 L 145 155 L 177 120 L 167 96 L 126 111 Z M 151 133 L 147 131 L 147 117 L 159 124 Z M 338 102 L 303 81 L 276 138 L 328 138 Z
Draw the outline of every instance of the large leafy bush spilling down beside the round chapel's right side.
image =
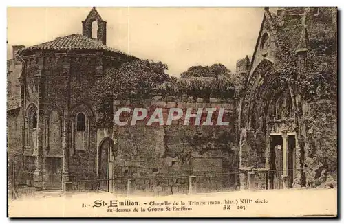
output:
M 113 101 L 117 99 L 147 98 L 156 86 L 169 80 L 164 71 L 168 67 L 161 62 L 134 60 L 119 69 L 110 68 L 96 83 L 96 115 L 98 126 L 112 126 Z

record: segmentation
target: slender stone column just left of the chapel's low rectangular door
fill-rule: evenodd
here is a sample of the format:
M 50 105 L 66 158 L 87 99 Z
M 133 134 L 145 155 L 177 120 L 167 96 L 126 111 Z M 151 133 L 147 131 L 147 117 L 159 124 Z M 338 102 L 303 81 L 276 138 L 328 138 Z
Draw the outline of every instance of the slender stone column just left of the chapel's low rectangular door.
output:
M 37 158 L 36 158 L 36 170 L 34 170 L 34 187 L 37 190 L 42 190 L 45 186 L 45 180 L 43 179 L 43 93 L 44 93 L 44 81 L 43 81 L 43 61 L 44 58 L 39 58 L 38 71 L 34 75 L 34 82 L 37 86 L 38 95 L 38 108 L 37 108 Z

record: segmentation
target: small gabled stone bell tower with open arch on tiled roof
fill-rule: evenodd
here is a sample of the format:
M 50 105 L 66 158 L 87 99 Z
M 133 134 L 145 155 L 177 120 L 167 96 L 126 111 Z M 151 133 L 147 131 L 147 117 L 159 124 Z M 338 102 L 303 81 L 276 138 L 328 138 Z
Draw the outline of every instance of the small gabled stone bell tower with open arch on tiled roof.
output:
M 92 26 L 92 23 L 96 23 L 96 27 Z M 96 29 L 96 32 L 94 32 L 94 29 Z M 83 36 L 99 41 L 103 45 L 107 43 L 107 22 L 103 21 L 96 7 L 92 8 L 85 21 L 83 21 Z

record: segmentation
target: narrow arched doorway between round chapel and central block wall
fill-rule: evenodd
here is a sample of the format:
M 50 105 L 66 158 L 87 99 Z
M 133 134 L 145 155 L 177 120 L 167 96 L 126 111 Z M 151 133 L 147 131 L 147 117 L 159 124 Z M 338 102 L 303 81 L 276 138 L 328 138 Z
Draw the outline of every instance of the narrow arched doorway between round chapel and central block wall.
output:
M 114 141 L 105 137 L 99 144 L 99 179 L 100 190 L 112 192 L 114 175 Z

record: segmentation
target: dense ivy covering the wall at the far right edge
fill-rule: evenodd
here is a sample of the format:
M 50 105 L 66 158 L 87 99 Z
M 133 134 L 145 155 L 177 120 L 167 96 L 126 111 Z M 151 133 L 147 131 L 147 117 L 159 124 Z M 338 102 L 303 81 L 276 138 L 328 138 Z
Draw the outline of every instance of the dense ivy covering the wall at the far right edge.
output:
M 336 173 L 337 164 L 337 31 L 335 11 L 308 13 L 305 23 L 289 17 L 278 30 L 275 70 L 293 88 L 300 138 L 305 138 L 308 186 L 320 184 L 321 170 Z M 304 37 L 304 39 L 302 38 Z M 307 45 L 308 51 L 297 54 Z M 295 88 L 297 87 L 297 88 Z M 303 141 L 303 139 L 300 139 Z M 300 142 L 301 142 L 300 141 Z M 316 174 L 315 174 L 316 173 Z M 315 184 L 316 183 L 316 184 Z M 315 186 L 314 186 L 315 184 Z

